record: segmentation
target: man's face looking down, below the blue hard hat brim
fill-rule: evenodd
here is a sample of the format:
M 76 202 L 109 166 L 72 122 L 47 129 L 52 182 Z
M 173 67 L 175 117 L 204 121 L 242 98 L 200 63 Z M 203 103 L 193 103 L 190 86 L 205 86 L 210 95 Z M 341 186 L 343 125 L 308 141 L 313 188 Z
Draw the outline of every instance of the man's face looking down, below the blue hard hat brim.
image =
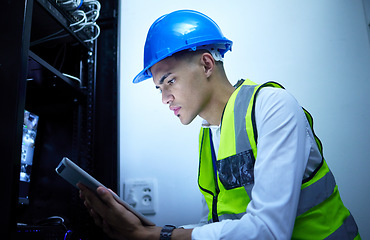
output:
M 195 61 L 166 58 L 156 63 L 151 72 L 156 88 L 162 92 L 162 102 L 187 125 L 200 115 L 210 99 L 210 89 L 204 67 Z

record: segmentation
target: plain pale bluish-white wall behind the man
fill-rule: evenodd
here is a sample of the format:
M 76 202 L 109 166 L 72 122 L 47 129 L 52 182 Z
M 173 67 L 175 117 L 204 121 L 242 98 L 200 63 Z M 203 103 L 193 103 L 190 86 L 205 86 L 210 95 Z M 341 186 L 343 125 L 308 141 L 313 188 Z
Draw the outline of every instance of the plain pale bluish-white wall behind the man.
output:
M 177 9 L 213 18 L 234 41 L 225 55 L 232 83 L 249 78 L 283 84 L 308 109 L 342 199 L 363 239 L 370 239 L 370 51 L 361 0 L 123 0 L 121 3 L 121 183 L 158 180 L 158 225 L 199 220 L 198 128 L 161 103 L 152 80 L 132 84 L 142 69 L 151 23 Z

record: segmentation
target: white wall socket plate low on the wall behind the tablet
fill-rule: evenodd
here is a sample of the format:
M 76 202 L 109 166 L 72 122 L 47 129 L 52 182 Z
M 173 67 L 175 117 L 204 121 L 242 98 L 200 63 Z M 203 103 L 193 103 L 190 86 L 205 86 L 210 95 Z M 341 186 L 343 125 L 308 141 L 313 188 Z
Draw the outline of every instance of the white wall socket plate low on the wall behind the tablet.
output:
M 124 183 L 124 200 L 145 215 L 154 215 L 157 211 L 157 180 L 128 179 Z

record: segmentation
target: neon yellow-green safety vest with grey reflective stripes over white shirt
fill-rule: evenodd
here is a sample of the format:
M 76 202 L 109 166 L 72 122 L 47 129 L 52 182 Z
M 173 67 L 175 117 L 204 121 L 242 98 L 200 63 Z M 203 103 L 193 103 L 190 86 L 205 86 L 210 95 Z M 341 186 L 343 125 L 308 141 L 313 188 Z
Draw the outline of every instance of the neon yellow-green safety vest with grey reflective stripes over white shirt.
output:
M 201 128 L 198 185 L 208 205 L 208 222 L 240 219 L 251 201 L 258 138 L 254 105 L 259 90 L 267 86 L 283 88 L 275 82 L 256 85 L 245 80 L 231 95 L 221 120 L 217 159 L 211 130 Z M 312 117 L 303 110 L 312 128 Z M 316 135 L 315 140 L 323 156 Z M 302 179 L 292 239 L 360 239 L 324 158 Z

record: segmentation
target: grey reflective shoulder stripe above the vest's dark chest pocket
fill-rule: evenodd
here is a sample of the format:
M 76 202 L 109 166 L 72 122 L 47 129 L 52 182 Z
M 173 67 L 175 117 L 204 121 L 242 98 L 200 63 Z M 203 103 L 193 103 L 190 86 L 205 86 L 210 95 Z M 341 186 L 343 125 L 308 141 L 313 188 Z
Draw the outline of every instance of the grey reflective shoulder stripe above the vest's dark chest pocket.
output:
M 249 102 L 252 98 L 255 86 L 243 85 L 235 99 L 234 105 L 234 124 L 235 124 L 235 143 L 236 153 L 251 149 L 247 130 L 245 129 L 245 115 Z

